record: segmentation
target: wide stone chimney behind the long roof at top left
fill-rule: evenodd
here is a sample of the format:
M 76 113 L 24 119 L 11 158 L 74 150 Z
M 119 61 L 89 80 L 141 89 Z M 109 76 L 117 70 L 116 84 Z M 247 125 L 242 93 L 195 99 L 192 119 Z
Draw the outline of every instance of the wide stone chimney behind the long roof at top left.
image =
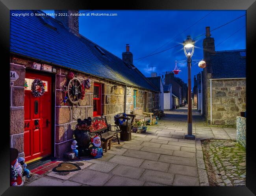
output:
M 62 22 L 64 27 L 69 29 L 69 32 L 75 34 L 76 36 L 80 36 L 78 11 L 79 10 L 54 10 L 54 13 L 56 14 L 55 19 Z

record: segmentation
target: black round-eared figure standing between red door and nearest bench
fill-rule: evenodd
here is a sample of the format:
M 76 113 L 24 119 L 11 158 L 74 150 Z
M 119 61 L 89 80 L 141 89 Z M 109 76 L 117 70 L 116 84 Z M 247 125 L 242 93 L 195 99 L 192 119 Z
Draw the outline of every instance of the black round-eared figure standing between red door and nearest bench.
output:
M 78 119 L 77 122 L 74 136 L 78 145 L 78 156 L 88 156 L 90 154 L 89 146 L 91 144 L 91 136 L 87 127 L 91 125 L 91 118 L 89 117 L 84 120 Z

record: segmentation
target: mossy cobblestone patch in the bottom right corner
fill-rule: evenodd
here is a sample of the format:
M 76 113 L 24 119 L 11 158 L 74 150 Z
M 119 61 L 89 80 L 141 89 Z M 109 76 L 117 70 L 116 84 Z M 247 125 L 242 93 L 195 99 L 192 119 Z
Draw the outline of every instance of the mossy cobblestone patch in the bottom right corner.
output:
M 245 185 L 246 152 L 243 147 L 233 140 L 208 139 L 202 140 L 201 143 L 210 185 Z

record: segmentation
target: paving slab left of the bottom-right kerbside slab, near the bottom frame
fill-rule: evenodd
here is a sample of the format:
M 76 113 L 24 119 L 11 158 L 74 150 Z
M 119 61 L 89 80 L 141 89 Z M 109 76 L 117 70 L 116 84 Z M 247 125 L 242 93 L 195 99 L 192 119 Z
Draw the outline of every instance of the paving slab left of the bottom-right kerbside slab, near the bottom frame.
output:
M 155 182 L 155 183 L 160 183 L 165 185 L 172 185 L 173 178 L 174 178 L 174 174 L 171 174 L 171 173 L 145 170 L 140 180 L 145 180 L 145 181 Z

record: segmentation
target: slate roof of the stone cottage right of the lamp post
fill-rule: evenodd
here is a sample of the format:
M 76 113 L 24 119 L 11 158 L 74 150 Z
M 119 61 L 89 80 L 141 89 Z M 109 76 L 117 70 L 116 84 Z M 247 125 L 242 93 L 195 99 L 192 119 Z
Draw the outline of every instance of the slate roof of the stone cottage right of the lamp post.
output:
M 216 51 L 210 53 L 212 78 L 246 78 L 246 50 Z

